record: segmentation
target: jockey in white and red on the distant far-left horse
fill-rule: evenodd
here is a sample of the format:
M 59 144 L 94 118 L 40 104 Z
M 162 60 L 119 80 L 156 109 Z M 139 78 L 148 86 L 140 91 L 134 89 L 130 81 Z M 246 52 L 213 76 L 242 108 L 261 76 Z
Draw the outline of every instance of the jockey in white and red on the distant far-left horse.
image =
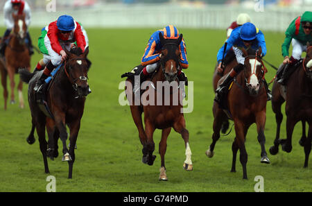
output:
M 4 55 L 4 51 L 6 49 L 6 45 L 8 44 L 8 37 L 14 27 L 14 19 L 12 14 L 15 15 L 22 15 L 25 14 L 25 23 L 27 28 L 31 24 L 31 8 L 29 7 L 28 3 L 23 0 L 8 0 L 4 4 L 3 8 L 4 13 L 4 21 L 6 24 L 6 32 L 3 35 L 3 41 L 0 45 L 0 53 Z M 26 44 L 28 46 L 29 54 L 33 54 L 33 44 L 31 42 L 31 36 L 29 32 L 26 32 Z

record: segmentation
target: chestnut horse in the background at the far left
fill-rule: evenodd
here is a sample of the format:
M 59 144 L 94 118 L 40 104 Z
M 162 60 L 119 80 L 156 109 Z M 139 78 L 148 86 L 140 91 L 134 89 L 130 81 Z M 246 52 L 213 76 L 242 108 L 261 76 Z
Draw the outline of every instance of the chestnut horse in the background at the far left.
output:
M 15 103 L 15 80 L 14 75 L 17 74 L 19 68 L 26 68 L 28 71 L 31 71 L 31 55 L 29 55 L 28 48 L 25 44 L 27 26 L 25 23 L 25 14 L 24 15 L 14 15 L 14 28 L 13 33 L 10 35 L 10 40 L 6 50 L 4 51 L 6 60 L 6 69 L 1 69 L 1 83 L 3 86 L 3 97 L 4 97 L 4 110 L 7 109 L 8 101 L 8 89 L 6 78 L 10 78 L 10 87 L 11 87 L 11 100 L 10 103 Z M 17 91 L 19 94 L 19 107 L 24 108 L 24 98 L 22 94 L 23 82 L 19 79 L 19 84 L 17 86 Z

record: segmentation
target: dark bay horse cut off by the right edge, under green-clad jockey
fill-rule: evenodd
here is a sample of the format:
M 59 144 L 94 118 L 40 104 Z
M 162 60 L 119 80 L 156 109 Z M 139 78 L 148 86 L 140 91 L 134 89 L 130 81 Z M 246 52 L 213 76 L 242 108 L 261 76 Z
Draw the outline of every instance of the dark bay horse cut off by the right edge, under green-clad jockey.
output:
M 272 87 L 272 110 L 275 112 L 277 122 L 277 132 L 274 145 L 270 148 L 270 153 L 276 155 L 281 149 L 290 153 L 292 146 L 293 129 L 298 121 L 302 121 L 302 137 L 299 141 L 304 146 L 305 160 L 304 167 L 308 166 L 309 154 L 311 152 L 312 135 L 312 46 L 307 44 L 306 57 L 299 67 L 295 69 L 291 78 L 286 83 L 286 96 L 282 95 L 284 88 L 275 80 Z M 286 139 L 279 139 L 279 130 L 283 114 L 281 104 L 286 101 Z M 309 124 L 308 137 L 306 137 L 306 123 Z

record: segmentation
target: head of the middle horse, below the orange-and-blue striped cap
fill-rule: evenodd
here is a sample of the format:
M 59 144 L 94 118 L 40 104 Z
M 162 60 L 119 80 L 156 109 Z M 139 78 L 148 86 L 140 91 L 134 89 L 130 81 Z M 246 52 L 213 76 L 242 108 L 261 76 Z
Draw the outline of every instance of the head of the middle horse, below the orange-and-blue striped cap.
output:
M 162 44 L 162 57 L 160 58 L 160 65 L 165 79 L 172 82 L 177 78 L 178 71 L 181 70 L 180 65 L 180 43 L 183 35 L 177 39 L 165 39 L 162 33 L 159 33 L 160 44 Z

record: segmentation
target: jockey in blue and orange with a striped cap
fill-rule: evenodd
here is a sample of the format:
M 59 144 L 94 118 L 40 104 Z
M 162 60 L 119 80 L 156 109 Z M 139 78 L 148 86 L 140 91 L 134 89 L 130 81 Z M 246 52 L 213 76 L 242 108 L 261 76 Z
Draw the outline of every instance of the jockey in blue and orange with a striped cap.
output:
M 139 76 L 139 82 L 135 82 L 135 86 L 133 91 L 137 92 L 140 88 L 140 83 L 144 82 L 146 78 L 152 74 L 155 69 L 159 66 L 159 60 L 161 58 L 161 50 L 162 50 L 162 44 L 160 44 L 159 40 L 159 33 L 162 33 L 165 39 L 177 39 L 179 38 L 179 31 L 175 26 L 168 25 L 162 30 L 155 31 L 153 35 L 150 36 L 150 39 L 148 40 L 148 44 L 146 46 L 145 52 L 143 57 L 141 58 L 141 65 L 135 67 L 133 69 L 133 72 L 128 72 L 125 74 L 125 76 Z M 180 56 L 180 63 L 182 69 L 187 69 L 189 67 L 189 62 L 187 61 L 187 48 L 185 46 L 185 42 L 182 39 L 180 46 L 179 46 L 181 56 Z M 124 76 L 122 76 L 124 77 Z M 180 81 L 184 81 L 185 85 L 187 85 L 187 77 L 185 76 L 184 72 L 180 71 L 179 74 L 177 74 L 177 78 L 179 78 Z

